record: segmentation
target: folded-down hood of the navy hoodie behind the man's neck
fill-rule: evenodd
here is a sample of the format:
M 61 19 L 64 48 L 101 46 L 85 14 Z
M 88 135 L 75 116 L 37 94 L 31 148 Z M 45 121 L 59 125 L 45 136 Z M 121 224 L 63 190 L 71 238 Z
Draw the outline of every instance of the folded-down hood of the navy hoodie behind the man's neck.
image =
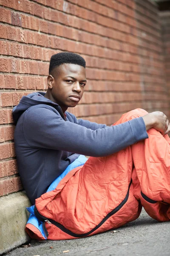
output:
M 63 117 L 63 113 L 59 105 L 55 102 L 52 102 L 50 99 L 44 97 L 45 93 L 30 93 L 27 96 L 23 96 L 17 106 L 13 108 L 12 114 L 14 118 L 15 124 L 17 123 L 20 116 L 30 107 L 39 105 L 39 104 L 46 104 L 50 105 L 51 107 L 57 109 L 61 116 Z

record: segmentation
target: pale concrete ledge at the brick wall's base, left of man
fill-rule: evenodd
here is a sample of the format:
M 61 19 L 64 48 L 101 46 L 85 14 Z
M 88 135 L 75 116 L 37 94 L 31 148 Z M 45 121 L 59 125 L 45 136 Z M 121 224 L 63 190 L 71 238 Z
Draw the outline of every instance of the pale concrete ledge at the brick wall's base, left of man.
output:
M 0 198 L 0 255 L 30 240 L 25 232 L 29 206 L 24 191 Z

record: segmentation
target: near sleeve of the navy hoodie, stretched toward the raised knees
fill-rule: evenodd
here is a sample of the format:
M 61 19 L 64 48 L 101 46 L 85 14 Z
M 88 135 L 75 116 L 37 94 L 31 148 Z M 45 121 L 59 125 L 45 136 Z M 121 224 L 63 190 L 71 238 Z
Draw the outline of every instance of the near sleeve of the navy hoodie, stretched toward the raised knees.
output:
M 26 111 L 23 133 L 30 147 L 70 151 L 93 157 L 113 154 L 148 138 L 142 117 L 93 131 L 64 121 L 48 106 L 35 106 Z

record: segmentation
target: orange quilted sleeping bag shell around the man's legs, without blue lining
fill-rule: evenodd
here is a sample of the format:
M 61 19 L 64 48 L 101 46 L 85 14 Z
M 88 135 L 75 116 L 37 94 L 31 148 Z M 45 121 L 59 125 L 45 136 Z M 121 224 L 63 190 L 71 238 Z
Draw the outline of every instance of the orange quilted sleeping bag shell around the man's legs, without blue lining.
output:
M 136 109 L 117 125 L 144 116 Z M 51 192 L 36 199 L 35 214 L 47 239 L 92 236 L 139 217 L 142 206 L 158 221 L 170 219 L 170 138 L 150 129 L 149 139 L 107 157 L 90 157 L 69 172 Z M 44 239 L 32 224 L 26 231 Z

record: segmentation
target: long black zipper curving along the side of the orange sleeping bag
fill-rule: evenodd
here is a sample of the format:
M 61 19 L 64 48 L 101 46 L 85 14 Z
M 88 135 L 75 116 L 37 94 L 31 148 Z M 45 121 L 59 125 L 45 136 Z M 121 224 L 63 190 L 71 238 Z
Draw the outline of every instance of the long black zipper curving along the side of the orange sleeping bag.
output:
M 48 224 L 54 224 L 56 227 L 58 227 L 60 230 L 62 230 L 63 232 L 67 233 L 68 235 L 70 236 L 73 236 L 73 237 L 77 237 L 77 238 L 80 238 L 80 237 L 85 237 L 85 236 L 89 236 L 91 233 L 93 233 L 94 231 L 96 231 L 99 227 L 102 226 L 102 224 L 105 223 L 105 221 L 108 220 L 108 218 L 110 218 L 112 215 L 114 215 L 116 212 L 118 212 L 123 206 L 124 204 L 127 202 L 128 198 L 129 198 L 129 190 L 130 190 L 130 185 L 132 184 L 132 180 L 130 181 L 130 184 L 129 184 L 129 187 L 128 187 L 128 190 L 127 190 L 127 194 L 124 198 L 124 200 L 115 208 L 113 209 L 111 212 L 108 213 L 108 215 L 105 216 L 105 218 L 102 219 L 102 221 L 96 226 L 94 227 L 91 231 L 89 231 L 88 233 L 84 233 L 84 234 L 76 234 L 76 233 L 73 233 L 72 231 L 68 230 L 67 228 L 65 228 L 62 224 L 59 224 L 57 221 L 54 221 L 50 218 L 45 218 L 43 215 L 41 215 L 36 206 L 34 208 L 34 214 L 35 216 L 41 220 L 41 221 L 45 221 L 45 222 L 48 222 Z M 44 223 L 45 223 L 44 222 Z M 44 224 L 45 226 L 45 224 Z

